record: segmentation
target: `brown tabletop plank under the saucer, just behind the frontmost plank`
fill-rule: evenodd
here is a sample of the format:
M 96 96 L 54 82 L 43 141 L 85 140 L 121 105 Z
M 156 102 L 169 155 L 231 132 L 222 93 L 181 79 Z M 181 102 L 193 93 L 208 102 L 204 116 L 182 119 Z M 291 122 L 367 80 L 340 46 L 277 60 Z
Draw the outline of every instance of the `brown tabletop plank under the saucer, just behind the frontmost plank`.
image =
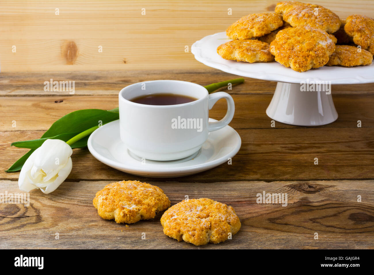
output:
M 374 128 L 238 129 L 242 147 L 232 165 L 181 178 L 175 182 L 221 180 L 323 180 L 374 178 Z M 17 180 L 19 173 L 6 173 L 27 149 L 10 147 L 11 141 L 39 138 L 41 131 L 6 131 L 0 150 L 0 178 Z M 315 165 L 318 158 L 318 165 Z M 68 180 L 149 180 L 129 175 L 97 161 L 88 149 L 74 149 L 73 170 Z M 224 178 L 223 176 L 224 175 Z

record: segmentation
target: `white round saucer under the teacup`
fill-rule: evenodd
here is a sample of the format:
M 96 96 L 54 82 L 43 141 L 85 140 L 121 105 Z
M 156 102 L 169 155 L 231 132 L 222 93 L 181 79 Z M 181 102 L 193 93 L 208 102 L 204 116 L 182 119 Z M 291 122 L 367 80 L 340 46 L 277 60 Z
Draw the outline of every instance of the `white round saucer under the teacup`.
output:
M 217 121 L 209 118 L 209 122 Z M 88 150 L 102 163 L 120 171 L 144 177 L 171 178 L 196 174 L 228 162 L 239 151 L 242 141 L 230 126 L 209 133 L 199 152 L 177 161 L 141 160 L 122 143 L 119 120 L 96 129 L 88 139 Z M 227 168 L 229 169 L 229 168 Z

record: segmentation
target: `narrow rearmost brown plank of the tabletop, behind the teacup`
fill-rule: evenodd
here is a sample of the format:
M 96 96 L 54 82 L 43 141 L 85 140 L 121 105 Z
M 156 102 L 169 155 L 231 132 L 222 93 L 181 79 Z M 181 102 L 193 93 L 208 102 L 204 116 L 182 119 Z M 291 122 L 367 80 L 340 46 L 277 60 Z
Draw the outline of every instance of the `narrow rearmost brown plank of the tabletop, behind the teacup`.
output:
M 44 91 L 44 82 L 74 81 L 75 95 L 117 95 L 128 85 L 156 79 L 174 79 L 208 85 L 238 78 L 234 74 L 205 67 L 197 70 L 74 71 L 44 73 L 1 73 L 0 97 L 16 95 L 68 95 L 68 92 Z M 245 77 L 245 83 L 233 86 L 231 94 L 273 94 L 276 82 Z M 222 88 L 222 91 L 227 91 Z M 332 94 L 373 94 L 374 84 L 332 85 Z

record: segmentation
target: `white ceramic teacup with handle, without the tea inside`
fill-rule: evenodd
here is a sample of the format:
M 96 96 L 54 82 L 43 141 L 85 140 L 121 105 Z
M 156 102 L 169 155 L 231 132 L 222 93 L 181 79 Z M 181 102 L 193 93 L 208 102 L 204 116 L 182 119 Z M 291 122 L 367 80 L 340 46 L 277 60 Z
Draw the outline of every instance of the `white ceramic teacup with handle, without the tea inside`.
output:
M 197 100 L 163 106 L 130 101 L 142 95 L 165 93 L 187 95 Z M 227 101 L 226 116 L 217 122 L 208 122 L 209 110 L 221 98 Z M 140 158 L 182 159 L 200 150 L 209 132 L 229 124 L 234 110 L 234 100 L 229 94 L 209 95 L 203 86 L 195 83 L 178 80 L 135 83 L 119 92 L 120 136 L 126 147 Z

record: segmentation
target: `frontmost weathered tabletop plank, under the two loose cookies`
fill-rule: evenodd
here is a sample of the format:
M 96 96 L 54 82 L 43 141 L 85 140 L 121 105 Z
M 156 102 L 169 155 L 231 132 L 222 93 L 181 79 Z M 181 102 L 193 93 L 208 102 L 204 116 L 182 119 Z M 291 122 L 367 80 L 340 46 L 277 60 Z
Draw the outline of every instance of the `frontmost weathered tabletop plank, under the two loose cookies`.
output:
M 108 183 L 65 182 L 48 195 L 31 191 L 29 207 L 0 204 L 0 248 L 197 248 L 164 235 L 162 213 L 128 227 L 101 219 L 92 199 Z M 242 223 L 239 232 L 232 240 L 202 249 L 374 248 L 373 180 L 148 183 L 162 188 L 172 205 L 188 195 L 234 207 Z M 263 191 L 287 193 L 287 206 L 257 204 L 256 195 Z M 0 193 L 5 192 L 19 193 L 16 182 L 0 181 Z

